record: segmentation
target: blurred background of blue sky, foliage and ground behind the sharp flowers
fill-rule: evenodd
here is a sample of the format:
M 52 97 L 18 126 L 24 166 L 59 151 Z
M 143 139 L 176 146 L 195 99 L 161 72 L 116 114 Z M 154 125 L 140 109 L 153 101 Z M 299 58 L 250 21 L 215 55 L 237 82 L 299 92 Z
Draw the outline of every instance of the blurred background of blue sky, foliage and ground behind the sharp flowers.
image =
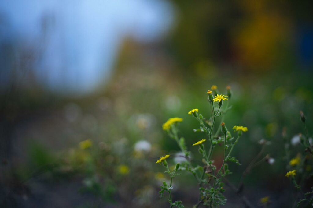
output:
M 261 154 L 275 162 L 251 170 L 240 197 L 291 207 L 282 132 L 290 157 L 303 151 L 302 110 L 312 137 L 311 10 L 311 1 L 1 0 L 1 207 L 168 206 L 155 161 L 179 149 L 162 123 L 182 117 L 200 160 L 191 145 L 204 135 L 187 112 L 209 117 L 212 85 L 231 87 L 228 128 L 249 129 L 228 180 L 238 183 L 265 139 Z M 213 159 L 221 164 L 222 146 Z M 174 199 L 192 207 L 192 176 L 175 186 Z M 244 207 L 225 195 L 223 207 Z

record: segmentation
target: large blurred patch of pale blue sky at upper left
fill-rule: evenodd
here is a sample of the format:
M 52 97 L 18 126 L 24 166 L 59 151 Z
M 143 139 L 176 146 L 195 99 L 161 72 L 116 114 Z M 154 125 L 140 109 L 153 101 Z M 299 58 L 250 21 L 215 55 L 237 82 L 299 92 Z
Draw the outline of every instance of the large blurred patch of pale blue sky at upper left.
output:
M 33 47 L 49 89 L 87 93 L 110 77 L 124 37 L 161 38 L 174 13 L 165 0 L 0 0 L 0 41 L 13 44 L 15 57 Z M 4 79 L 9 67 L 0 67 Z

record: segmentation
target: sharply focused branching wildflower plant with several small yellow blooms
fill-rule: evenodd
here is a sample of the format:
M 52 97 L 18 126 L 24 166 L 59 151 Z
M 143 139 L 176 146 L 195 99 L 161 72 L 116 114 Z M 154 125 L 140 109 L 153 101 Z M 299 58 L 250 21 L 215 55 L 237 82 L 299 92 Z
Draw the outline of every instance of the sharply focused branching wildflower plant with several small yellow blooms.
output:
M 188 112 L 189 115 L 199 122 L 199 128 L 194 129 L 194 132 L 204 133 L 206 136 L 206 138 L 195 141 L 192 145 L 198 147 L 198 152 L 202 156 L 202 165 L 193 164 L 190 159 L 191 152 L 187 149 L 185 139 L 178 136 L 179 130 L 177 123 L 181 122 L 182 118 L 171 118 L 163 124 L 163 130 L 167 132 L 169 137 L 173 138 L 177 142 L 177 145 L 186 157 L 186 161 L 181 162 L 181 164 L 177 163 L 172 172 L 169 170 L 166 161 L 169 155 L 161 157 L 156 162 L 162 164 L 166 168 L 165 172 L 168 173 L 171 178 L 169 185 L 165 181 L 163 182 L 163 186 L 161 186 L 161 191 L 159 192 L 161 197 L 164 192 L 168 192 L 168 202 L 170 203 L 171 208 L 184 207 L 181 201 L 172 201 L 171 191 L 175 188 L 172 186 L 172 181 L 174 177 L 179 175 L 179 173 L 177 173 L 178 171 L 190 172 L 195 178 L 195 181 L 198 183 L 198 201 L 193 206 L 194 208 L 199 207 L 201 204 L 206 207 L 219 207 L 220 205 L 224 205 L 226 203 L 226 198 L 223 195 L 223 192 L 225 191 L 223 188 L 224 183 L 222 181 L 224 177 L 231 174 L 227 162 L 234 162 L 237 165 L 240 165 L 239 161 L 233 157 L 232 152 L 242 133 L 248 131 L 248 128 L 243 126 L 234 126 L 233 130 L 237 135 L 236 137 L 232 136 L 232 133 L 223 122 L 224 115 L 229 109 L 231 109 L 231 107 L 228 107 L 227 103 L 226 107 L 222 108 L 223 102 L 228 102 L 231 97 L 230 87 L 228 86 L 226 88 L 227 95 L 218 94 L 216 85 L 213 85 L 211 90 L 208 90 L 207 92 L 208 102 L 211 106 L 211 115 L 209 119 L 205 119 L 204 116 L 199 113 L 199 109 L 192 109 Z M 221 117 L 220 125 L 216 122 L 218 117 Z M 224 147 L 223 163 L 221 167 L 216 167 L 214 161 L 212 160 L 212 154 L 215 147 L 219 143 L 223 143 Z

